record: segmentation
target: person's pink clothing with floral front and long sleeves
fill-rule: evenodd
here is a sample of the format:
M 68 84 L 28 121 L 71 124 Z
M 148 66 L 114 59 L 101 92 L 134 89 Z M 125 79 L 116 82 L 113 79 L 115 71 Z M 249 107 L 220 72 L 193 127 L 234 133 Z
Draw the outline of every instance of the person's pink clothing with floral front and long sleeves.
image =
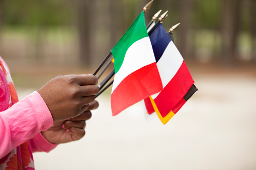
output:
M 40 133 L 52 125 L 39 93 L 18 102 L 10 71 L 0 57 L 0 169 L 34 169 L 32 152 L 56 147 Z

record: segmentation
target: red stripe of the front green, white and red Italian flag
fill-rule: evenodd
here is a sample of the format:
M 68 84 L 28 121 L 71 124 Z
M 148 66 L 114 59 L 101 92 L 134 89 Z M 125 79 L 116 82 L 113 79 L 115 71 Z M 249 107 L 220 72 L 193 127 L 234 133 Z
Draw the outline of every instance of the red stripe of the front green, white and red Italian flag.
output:
M 114 80 L 115 81 L 115 80 Z M 162 90 L 156 63 L 149 64 L 128 75 L 111 94 L 112 115 Z

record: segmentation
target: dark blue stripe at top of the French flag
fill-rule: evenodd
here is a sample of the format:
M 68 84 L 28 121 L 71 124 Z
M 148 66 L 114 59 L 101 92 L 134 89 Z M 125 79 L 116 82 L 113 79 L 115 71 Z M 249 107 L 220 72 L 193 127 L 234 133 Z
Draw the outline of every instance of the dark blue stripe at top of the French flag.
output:
M 159 23 L 149 35 L 150 42 L 154 51 L 155 61 L 162 57 L 162 54 L 168 44 L 172 41 L 165 32 L 161 23 Z

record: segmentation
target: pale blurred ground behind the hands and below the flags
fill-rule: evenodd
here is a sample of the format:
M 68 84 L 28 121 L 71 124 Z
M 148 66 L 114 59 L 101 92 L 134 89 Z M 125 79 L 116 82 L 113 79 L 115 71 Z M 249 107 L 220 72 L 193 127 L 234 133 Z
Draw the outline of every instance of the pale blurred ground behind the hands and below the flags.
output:
M 36 169 L 255 169 L 255 66 L 187 65 L 199 91 L 166 125 L 146 123 L 141 102 L 112 117 L 105 92 L 86 136 L 35 153 Z M 84 71 L 12 67 L 20 99 L 50 77 Z

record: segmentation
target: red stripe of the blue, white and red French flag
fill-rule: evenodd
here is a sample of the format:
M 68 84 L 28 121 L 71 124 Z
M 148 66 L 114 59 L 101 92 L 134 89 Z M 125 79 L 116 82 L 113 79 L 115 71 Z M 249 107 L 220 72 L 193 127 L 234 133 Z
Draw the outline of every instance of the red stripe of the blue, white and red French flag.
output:
M 169 81 L 154 99 L 162 117 L 165 117 L 171 110 L 173 110 L 188 92 L 193 83 L 194 80 L 192 79 L 187 65 L 183 61 L 173 79 Z

